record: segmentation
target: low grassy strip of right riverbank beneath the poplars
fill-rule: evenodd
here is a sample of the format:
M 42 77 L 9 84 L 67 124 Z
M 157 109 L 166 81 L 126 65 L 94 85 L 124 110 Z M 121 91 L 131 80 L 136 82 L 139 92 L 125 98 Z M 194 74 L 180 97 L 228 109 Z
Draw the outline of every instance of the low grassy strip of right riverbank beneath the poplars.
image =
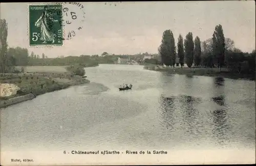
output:
M 161 72 L 168 72 L 170 74 L 180 74 L 180 75 L 202 75 L 202 76 L 212 76 L 212 77 L 224 77 L 232 79 L 249 79 L 255 80 L 255 75 L 253 74 L 239 74 L 229 72 L 226 68 L 222 68 L 221 72 L 218 68 L 180 68 L 180 67 L 162 67 L 159 65 L 144 65 L 146 70 L 154 70 Z

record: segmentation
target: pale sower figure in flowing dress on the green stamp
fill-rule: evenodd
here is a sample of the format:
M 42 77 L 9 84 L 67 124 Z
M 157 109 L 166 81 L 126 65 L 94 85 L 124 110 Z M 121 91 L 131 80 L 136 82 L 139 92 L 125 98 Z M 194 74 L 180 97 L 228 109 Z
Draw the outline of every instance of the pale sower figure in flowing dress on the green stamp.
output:
M 53 13 L 48 11 L 47 9 L 42 12 L 40 18 L 35 22 L 35 26 L 40 28 L 41 37 L 40 40 L 44 41 L 42 43 L 46 43 L 47 41 L 52 41 L 54 43 L 54 38 L 57 36 L 52 32 L 52 26 L 55 20 L 52 18 Z

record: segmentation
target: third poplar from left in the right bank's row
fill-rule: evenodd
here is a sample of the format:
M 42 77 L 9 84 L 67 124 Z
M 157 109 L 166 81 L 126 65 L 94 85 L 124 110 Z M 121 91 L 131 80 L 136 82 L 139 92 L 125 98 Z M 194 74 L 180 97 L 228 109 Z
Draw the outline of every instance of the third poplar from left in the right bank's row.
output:
M 191 67 L 193 65 L 194 60 L 194 41 L 193 41 L 193 34 L 189 32 L 186 35 L 186 39 L 184 41 L 184 47 L 185 47 L 185 61 L 187 64 L 187 67 Z

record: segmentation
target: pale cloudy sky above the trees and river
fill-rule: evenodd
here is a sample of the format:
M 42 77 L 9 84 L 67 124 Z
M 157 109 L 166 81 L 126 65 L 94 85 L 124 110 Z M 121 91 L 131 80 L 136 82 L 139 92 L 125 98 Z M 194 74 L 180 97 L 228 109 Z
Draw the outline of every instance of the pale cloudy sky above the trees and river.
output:
M 175 42 L 188 32 L 201 41 L 209 39 L 221 24 L 225 38 L 231 38 L 242 51 L 255 49 L 254 1 L 181 2 L 80 2 L 83 8 L 66 4 L 77 15 L 64 31 L 76 31 L 62 46 L 29 45 L 28 5 L 38 3 L 1 3 L 1 19 L 8 23 L 10 47 L 28 48 L 48 58 L 101 54 L 157 53 L 162 33 L 171 30 Z M 85 14 L 83 14 L 85 13 Z M 84 18 L 83 18 L 84 16 Z M 66 18 L 72 21 L 70 18 Z

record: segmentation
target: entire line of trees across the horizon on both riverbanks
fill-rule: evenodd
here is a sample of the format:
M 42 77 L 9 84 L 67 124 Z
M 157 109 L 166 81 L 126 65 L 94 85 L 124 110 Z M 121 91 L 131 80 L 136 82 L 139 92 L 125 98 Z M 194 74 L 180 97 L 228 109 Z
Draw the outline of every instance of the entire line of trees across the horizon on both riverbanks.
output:
M 0 19 L 0 73 L 8 72 L 13 66 L 80 64 L 81 66 L 90 67 L 98 64 L 114 64 L 121 56 L 108 52 L 103 52 L 101 56 L 81 55 L 65 58 L 48 58 L 44 53 L 39 56 L 31 52 L 29 56 L 27 48 L 8 48 L 7 36 L 8 24 L 5 19 Z M 141 63 L 144 53 L 128 56 Z M 180 34 L 177 47 L 173 32 L 165 30 L 158 48 L 158 54 L 155 54 L 154 57 L 154 59 L 147 60 L 147 63 L 173 67 L 178 63 L 181 67 L 186 64 L 189 68 L 194 65 L 195 67 L 218 67 L 220 70 L 225 67 L 232 72 L 255 73 L 255 50 L 248 53 L 234 47 L 234 42 L 224 37 L 220 24 L 215 27 L 212 37 L 203 42 L 200 41 L 198 36 L 194 40 L 191 32 L 185 36 L 183 41 Z

